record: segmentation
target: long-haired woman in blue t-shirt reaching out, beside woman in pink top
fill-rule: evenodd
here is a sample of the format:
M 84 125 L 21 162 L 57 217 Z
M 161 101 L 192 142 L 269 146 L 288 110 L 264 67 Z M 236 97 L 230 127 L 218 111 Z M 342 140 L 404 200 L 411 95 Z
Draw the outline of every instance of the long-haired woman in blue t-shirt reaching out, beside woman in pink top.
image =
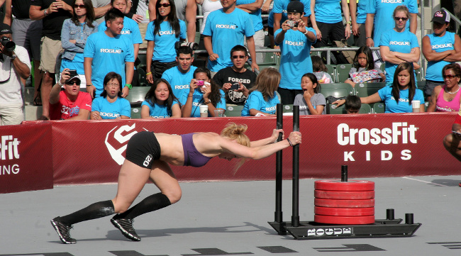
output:
M 383 87 L 370 96 L 360 98 L 362 103 L 372 104 L 384 101 L 386 104 L 385 113 L 411 113 L 411 101 L 420 102 L 419 112 L 424 112 L 423 91 L 416 89 L 413 66 L 409 62 L 400 63 L 394 73 L 394 82 L 390 87 Z M 332 104 L 341 106 L 345 103 L 344 99 L 335 101 Z

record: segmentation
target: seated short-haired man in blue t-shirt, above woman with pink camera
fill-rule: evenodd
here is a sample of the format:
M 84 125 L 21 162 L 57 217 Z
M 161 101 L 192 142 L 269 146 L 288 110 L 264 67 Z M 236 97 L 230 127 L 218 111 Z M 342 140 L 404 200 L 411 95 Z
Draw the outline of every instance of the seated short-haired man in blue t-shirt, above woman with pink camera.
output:
M 194 71 L 197 67 L 192 66 L 194 62 L 193 51 L 189 46 L 181 46 L 176 52 L 177 67 L 165 70 L 162 78 L 170 84 L 174 96 L 179 98 L 183 91 L 189 91 L 189 83 L 194 78 Z

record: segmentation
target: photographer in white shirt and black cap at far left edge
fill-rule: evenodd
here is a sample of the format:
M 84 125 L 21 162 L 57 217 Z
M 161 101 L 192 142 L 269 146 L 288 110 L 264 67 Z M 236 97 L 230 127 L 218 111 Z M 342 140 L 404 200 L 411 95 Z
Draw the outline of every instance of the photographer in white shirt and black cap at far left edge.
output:
M 30 76 L 27 50 L 15 47 L 11 33 L 9 25 L 0 23 L 0 125 L 3 126 L 24 121 L 21 78 Z

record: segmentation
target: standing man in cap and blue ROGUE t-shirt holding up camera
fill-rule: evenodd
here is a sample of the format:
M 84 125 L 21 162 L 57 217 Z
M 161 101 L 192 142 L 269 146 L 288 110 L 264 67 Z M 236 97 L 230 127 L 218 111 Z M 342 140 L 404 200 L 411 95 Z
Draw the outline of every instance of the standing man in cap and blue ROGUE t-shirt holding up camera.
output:
M 301 16 L 304 15 L 304 4 L 291 1 L 287 6 L 288 20 L 282 23 L 274 33 L 274 41 L 280 46 L 279 89 L 277 91 L 282 104 L 293 104 L 296 94 L 302 94 L 301 77 L 312 72 L 311 45 L 316 42 L 316 32 L 307 28 Z M 296 24 L 292 23 L 298 23 Z

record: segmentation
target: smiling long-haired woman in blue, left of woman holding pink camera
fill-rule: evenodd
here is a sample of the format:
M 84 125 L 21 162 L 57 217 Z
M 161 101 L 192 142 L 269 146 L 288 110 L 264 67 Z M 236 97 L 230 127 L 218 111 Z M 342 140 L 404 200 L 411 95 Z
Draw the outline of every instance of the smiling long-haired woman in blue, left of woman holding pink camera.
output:
M 170 84 L 165 79 L 155 80 L 141 104 L 141 118 L 180 118 L 179 100 L 174 96 Z

